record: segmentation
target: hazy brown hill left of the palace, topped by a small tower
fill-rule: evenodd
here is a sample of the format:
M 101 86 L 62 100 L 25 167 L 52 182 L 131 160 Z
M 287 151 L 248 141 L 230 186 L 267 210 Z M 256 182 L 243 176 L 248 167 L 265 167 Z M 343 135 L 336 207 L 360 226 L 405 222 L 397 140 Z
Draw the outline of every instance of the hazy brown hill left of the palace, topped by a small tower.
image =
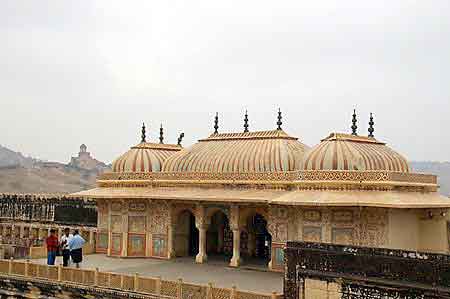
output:
M 72 193 L 95 187 L 96 177 L 109 166 L 80 147 L 68 164 L 24 157 L 0 146 L 0 193 Z

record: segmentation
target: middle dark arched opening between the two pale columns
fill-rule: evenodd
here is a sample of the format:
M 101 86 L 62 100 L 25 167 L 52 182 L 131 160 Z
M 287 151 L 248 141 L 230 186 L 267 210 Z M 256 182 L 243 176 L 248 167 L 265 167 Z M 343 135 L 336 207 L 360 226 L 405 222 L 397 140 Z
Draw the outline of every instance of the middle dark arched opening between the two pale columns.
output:
M 206 252 L 208 257 L 228 261 L 233 255 L 233 233 L 227 215 L 218 210 L 212 214 L 206 233 Z

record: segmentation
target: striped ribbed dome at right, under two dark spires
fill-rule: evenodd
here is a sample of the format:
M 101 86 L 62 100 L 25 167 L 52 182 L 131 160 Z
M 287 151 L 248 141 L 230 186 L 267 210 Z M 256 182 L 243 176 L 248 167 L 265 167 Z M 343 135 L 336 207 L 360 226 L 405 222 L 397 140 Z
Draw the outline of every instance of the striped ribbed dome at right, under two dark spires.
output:
M 375 138 L 332 133 L 305 156 L 304 170 L 409 172 L 408 161 Z

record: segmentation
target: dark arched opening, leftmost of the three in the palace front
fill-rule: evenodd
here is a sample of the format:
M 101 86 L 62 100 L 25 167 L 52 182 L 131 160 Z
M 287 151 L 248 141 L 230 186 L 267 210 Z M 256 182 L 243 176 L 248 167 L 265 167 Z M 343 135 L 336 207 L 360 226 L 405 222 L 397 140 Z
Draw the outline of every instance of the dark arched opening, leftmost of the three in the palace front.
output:
M 198 238 L 194 214 L 189 210 L 181 212 L 175 227 L 175 255 L 195 257 L 198 253 Z

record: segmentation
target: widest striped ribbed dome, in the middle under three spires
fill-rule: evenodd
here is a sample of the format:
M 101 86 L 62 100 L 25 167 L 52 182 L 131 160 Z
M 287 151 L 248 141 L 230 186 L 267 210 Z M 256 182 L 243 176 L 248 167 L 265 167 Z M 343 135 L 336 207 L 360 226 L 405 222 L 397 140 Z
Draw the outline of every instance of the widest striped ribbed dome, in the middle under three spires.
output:
M 171 156 L 164 172 L 249 173 L 299 170 L 309 148 L 282 130 L 213 134 Z

